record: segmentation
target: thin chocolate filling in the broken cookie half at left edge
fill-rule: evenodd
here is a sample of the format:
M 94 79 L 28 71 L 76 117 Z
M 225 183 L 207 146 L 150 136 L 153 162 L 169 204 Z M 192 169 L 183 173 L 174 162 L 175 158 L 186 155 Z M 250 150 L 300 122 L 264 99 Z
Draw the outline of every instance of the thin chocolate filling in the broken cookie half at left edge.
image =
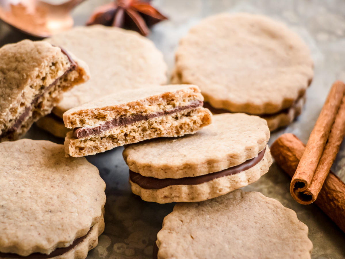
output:
M 63 73 L 62 76 L 55 79 L 55 81 L 53 83 L 51 83 L 48 87 L 46 87 L 42 91 L 42 93 L 36 95 L 36 97 L 32 100 L 30 106 L 25 108 L 24 112 L 21 115 L 19 115 L 19 117 L 14 121 L 14 124 L 0 135 L 0 138 L 18 130 L 18 128 L 21 126 L 21 124 L 29 117 L 29 114 L 30 114 L 30 111 L 32 110 L 32 108 L 38 106 L 40 98 L 45 93 L 47 93 L 53 86 L 55 86 L 61 77 L 66 76 L 68 73 L 70 73 L 71 71 L 73 71 L 77 68 L 78 65 L 71 58 L 71 56 L 63 48 L 60 47 L 60 49 L 61 49 L 61 52 L 67 56 L 69 62 L 71 63 L 71 66 L 65 71 L 65 73 Z

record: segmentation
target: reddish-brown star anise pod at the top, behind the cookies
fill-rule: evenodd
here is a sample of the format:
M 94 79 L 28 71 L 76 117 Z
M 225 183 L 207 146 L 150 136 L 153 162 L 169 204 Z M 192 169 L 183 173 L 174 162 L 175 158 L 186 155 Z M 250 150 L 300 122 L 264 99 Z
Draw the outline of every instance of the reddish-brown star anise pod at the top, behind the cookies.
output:
M 117 0 L 96 9 L 86 25 L 115 26 L 147 36 L 150 32 L 149 27 L 167 19 L 147 2 Z

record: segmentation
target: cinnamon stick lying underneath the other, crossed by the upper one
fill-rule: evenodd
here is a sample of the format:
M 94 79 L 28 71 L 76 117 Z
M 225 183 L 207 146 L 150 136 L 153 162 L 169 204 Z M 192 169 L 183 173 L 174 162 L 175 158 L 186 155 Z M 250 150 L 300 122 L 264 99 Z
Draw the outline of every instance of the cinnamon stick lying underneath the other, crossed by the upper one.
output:
M 276 163 L 293 177 L 305 151 L 304 144 L 293 134 L 281 135 L 270 147 Z M 345 184 L 329 172 L 315 204 L 345 232 Z

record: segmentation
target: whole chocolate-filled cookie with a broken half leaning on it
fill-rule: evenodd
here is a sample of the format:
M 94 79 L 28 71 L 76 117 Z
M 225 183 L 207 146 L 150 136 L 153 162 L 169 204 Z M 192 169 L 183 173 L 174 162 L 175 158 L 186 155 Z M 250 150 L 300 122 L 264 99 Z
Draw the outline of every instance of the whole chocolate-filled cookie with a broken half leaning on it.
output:
M 194 135 L 129 145 L 132 192 L 151 202 L 194 202 L 251 184 L 272 164 L 269 135 L 264 119 L 226 113 Z

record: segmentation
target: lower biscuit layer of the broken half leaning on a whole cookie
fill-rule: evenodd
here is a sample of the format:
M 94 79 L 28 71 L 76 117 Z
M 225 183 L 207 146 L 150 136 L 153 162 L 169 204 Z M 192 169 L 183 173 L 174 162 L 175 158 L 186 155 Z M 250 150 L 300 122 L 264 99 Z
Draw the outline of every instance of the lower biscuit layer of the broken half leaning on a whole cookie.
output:
M 65 139 L 65 151 L 74 157 L 93 155 L 116 146 L 137 143 L 155 137 L 193 134 L 210 124 L 210 121 L 211 113 L 208 109 L 198 107 L 172 115 L 151 118 L 147 121 L 114 127 L 100 135 L 91 135 L 86 138 L 76 139 L 73 137 L 73 132 L 69 132 Z

